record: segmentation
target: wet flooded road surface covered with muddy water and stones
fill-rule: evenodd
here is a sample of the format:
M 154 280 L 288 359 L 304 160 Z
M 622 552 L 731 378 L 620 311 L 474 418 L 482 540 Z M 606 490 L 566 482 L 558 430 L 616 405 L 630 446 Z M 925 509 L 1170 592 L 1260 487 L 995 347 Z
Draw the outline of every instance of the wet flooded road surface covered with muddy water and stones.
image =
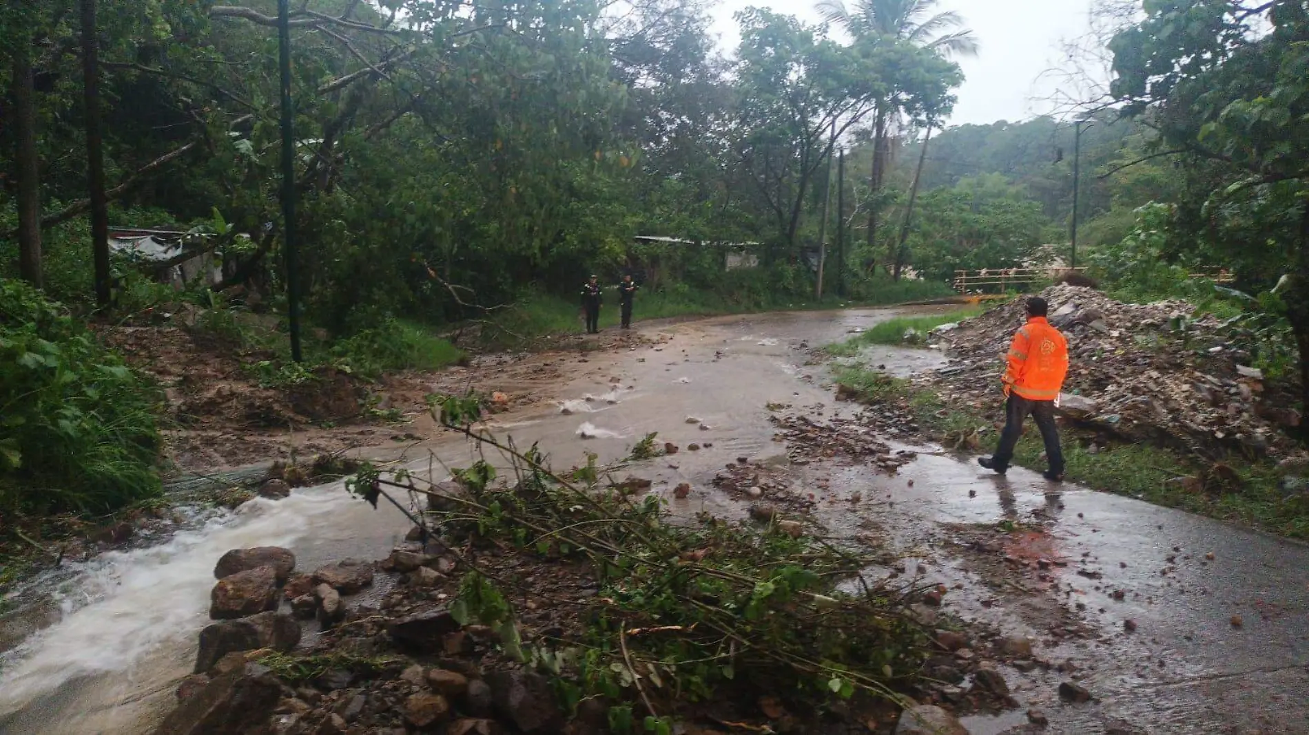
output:
M 618 462 L 657 432 L 681 451 L 617 473 L 653 480 L 652 492 L 668 496 L 675 513 L 742 517 L 745 504 L 711 485 L 716 471 L 738 456 L 784 462 L 774 413 L 852 412 L 834 403 L 827 369 L 805 365 L 810 348 L 890 315 L 770 314 L 647 327 L 664 341 L 542 357 L 571 375 L 548 388 L 552 403 L 496 415 L 491 425 L 518 446 L 539 442 L 556 468 L 584 463 L 588 451 L 602 464 Z M 940 360 L 885 348 L 867 358 L 899 373 Z M 692 443 L 703 449 L 691 451 Z M 442 464 L 466 467 L 475 453 L 445 434 L 410 456 L 415 470 L 432 463 L 441 475 Z M 840 464 L 791 473 L 796 492 L 816 492 L 818 519 L 835 532 L 878 534 L 910 569 L 922 561 L 928 579 L 959 586 L 945 595 L 946 612 L 1030 636 L 1038 658 L 1073 663 L 1066 674 L 1001 667 L 1022 708 L 969 718 L 971 732 L 1028 731 L 1028 708 L 1050 718 L 1047 732 L 1309 732 L 1309 549 L 1072 485 L 1050 494 L 1038 475 L 991 477 L 963 459 L 923 454 L 890 477 Z M 678 483 L 692 485 L 690 497 L 672 500 Z M 853 493 L 860 502 L 848 502 Z M 1003 521 L 1024 532 L 994 534 Z M 285 545 L 312 569 L 350 556 L 380 558 L 406 531 L 397 510 L 374 511 L 334 484 L 254 501 L 160 547 L 105 555 L 60 592 L 63 620 L 4 662 L 0 731 L 147 732 L 190 672 L 208 623 L 212 568 L 225 551 Z M 1013 547 L 990 556 L 1008 557 L 1021 574 L 997 575 L 970 551 L 988 534 Z M 1050 565 L 1038 579 L 1038 558 L 1066 566 Z M 1081 634 L 1064 634 L 1072 623 Z M 1056 688 L 1072 679 L 1096 701 L 1062 704 Z

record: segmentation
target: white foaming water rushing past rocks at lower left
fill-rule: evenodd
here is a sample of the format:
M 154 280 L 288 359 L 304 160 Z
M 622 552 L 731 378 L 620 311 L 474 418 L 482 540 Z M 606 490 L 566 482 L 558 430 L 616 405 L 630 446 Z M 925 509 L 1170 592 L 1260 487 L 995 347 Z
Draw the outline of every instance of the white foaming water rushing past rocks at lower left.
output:
M 359 502 L 340 484 L 292 493 L 281 501 L 255 498 L 202 528 L 130 552 L 109 552 L 85 565 L 63 620 L 4 657 L 0 715 L 88 676 L 123 674 L 127 694 L 149 680 L 137 671 L 160 649 L 194 650 L 195 633 L 209 623 L 213 565 L 233 548 L 288 545 L 325 515 Z M 185 672 L 183 672 L 185 674 Z

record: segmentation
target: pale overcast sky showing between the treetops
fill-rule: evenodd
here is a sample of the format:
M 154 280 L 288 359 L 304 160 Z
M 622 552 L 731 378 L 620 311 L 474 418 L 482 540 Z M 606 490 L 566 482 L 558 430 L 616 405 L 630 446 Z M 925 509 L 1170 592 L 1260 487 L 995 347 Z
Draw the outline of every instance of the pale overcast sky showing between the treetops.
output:
M 852 3 L 852 0 L 846 0 Z M 1047 112 L 1062 84 L 1042 72 L 1063 59 L 1060 42 L 1088 29 L 1092 0 L 941 0 L 942 10 L 956 10 L 980 42 L 977 58 L 958 59 L 967 77 L 956 94 L 950 124 L 1021 120 Z M 740 42 L 733 14 L 749 7 L 818 22 L 812 0 L 719 0 L 712 10 L 712 31 L 733 54 Z

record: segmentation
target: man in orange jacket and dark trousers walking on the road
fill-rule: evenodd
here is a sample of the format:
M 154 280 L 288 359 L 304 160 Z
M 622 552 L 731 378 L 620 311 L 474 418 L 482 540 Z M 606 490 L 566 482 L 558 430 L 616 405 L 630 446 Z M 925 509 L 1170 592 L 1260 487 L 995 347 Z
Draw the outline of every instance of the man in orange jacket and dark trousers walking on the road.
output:
M 1009 345 L 1004 377 L 1005 404 L 1004 432 L 1000 446 L 991 456 L 978 458 L 978 464 L 1004 475 L 1013 459 L 1013 447 L 1022 436 L 1022 422 L 1030 413 L 1046 442 L 1050 470 L 1046 480 L 1063 480 L 1063 450 L 1059 447 L 1059 429 L 1055 426 L 1055 405 L 1059 388 L 1068 374 L 1068 340 L 1046 322 L 1050 306 L 1041 297 L 1028 299 L 1028 323 Z

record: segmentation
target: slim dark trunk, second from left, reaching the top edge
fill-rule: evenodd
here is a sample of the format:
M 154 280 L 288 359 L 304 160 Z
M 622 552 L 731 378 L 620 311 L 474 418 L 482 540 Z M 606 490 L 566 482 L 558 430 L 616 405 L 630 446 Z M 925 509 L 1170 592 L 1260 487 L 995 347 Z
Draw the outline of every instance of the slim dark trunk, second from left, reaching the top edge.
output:
M 82 98 L 86 107 L 86 183 L 90 190 L 90 248 L 96 262 L 96 303 L 109 306 L 109 197 L 105 195 L 105 145 L 99 126 L 99 42 L 96 0 L 81 0 Z

